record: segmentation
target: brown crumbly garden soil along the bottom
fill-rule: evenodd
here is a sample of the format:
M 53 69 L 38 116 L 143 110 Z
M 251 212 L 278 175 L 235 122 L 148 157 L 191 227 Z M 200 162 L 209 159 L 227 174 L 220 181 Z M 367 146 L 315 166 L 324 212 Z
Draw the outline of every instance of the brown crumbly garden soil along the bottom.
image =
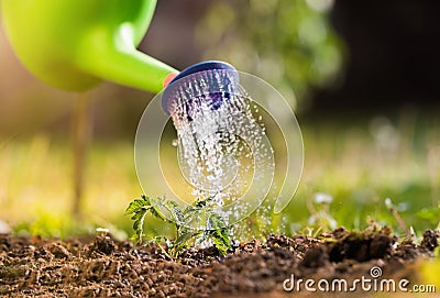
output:
M 283 282 L 293 274 L 296 279 L 371 278 L 374 266 L 382 268 L 382 278 L 414 282 L 413 264 L 430 257 L 438 239 L 438 233 L 427 231 L 420 245 L 396 243 L 387 229 L 340 228 L 319 238 L 270 235 L 264 243 L 237 245 L 224 257 L 213 247 L 190 249 L 170 261 L 155 246 L 133 247 L 109 235 L 62 241 L 3 234 L 0 296 L 320 297 L 305 290 L 286 293 Z

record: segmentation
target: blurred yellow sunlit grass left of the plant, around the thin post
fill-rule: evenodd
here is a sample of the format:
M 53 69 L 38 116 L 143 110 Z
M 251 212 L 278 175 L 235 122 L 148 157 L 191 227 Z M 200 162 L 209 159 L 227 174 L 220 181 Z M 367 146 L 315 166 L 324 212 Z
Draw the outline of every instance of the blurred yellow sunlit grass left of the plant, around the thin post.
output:
M 70 217 L 73 169 L 69 143 L 37 135 L 2 144 L 0 220 L 19 232 L 57 236 L 85 233 L 96 225 L 110 228 L 113 232 L 128 230 L 129 223 L 123 224 L 123 210 L 141 194 L 132 144 L 95 142 L 87 161 L 84 220 L 78 224 Z

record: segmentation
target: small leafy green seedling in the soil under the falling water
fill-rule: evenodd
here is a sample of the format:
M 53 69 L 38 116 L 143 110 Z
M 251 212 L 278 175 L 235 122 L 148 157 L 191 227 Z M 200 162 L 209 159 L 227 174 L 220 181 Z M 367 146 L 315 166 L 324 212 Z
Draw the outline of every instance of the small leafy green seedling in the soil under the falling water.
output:
M 165 217 L 162 210 L 166 210 L 172 219 Z M 165 236 L 147 238 L 144 234 L 143 225 L 146 214 L 174 224 L 176 236 L 169 240 Z M 134 234 L 131 240 L 136 244 L 156 243 L 168 257 L 176 257 L 191 244 L 198 246 L 204 242 L 211 242 L 220 252 L 226 255 L 231 249 L 230 228 L 223 218 L 213 210 L 212 198 L 198 199 L 184 210 L 173 200 L 164 198 L 153 199 L 144 195 L 140 199 L 133 200 L 125 210 L 125 214 L 132 216 Z M 206 221 L 201 230 L 188 228 L 194 220 Z M 166 249 L 161 243 L 166 243 Z

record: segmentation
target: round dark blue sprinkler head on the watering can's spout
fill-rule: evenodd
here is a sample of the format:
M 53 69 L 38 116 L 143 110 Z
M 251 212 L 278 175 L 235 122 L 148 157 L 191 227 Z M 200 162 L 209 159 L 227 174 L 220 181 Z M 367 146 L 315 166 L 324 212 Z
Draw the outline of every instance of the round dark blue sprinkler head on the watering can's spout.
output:
M 206 101 L 211 110 L 221 107 L 239 87 L 239 73 L 226 62 L 210 60 L 182 70 L 165 88 L 162 108 L 172 114 L 176 104 L 183 104 L 188 120 L 195 102 Z

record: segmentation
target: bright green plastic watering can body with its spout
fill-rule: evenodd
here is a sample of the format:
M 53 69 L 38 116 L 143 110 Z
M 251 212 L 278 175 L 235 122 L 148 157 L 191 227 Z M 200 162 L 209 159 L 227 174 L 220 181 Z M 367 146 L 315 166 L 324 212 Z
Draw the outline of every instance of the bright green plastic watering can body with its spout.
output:
M 136 49 L 156 0 L 2 0 L 3 22 L 22 63 L 74 91 L 102 80 L 158 92 L 178 71 Z

